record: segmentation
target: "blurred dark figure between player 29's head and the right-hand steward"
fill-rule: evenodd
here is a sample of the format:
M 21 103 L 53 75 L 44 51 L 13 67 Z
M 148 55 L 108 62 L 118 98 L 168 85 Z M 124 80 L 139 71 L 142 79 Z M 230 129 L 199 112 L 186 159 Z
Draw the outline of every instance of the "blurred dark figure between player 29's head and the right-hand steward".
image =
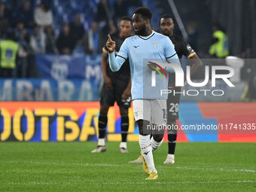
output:
M 198 32 L 197 32 L 197 23 L 195 23 L 194 21 L 187 23 L 187 35 L 188 35 L 187 43 L 190 44 L 191 47 L 193 47 L 195 52 L 197 52 Z

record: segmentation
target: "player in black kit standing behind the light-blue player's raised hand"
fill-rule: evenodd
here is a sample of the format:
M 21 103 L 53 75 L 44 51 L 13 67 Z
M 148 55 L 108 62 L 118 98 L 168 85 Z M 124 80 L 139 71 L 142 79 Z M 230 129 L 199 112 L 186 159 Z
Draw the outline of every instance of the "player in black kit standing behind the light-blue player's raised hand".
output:
M 123 41 L 130 37 L 133 29 L 133 23 L 130 17 L 123 17 L 120 20 L 120 32 L 111 35 L 111 38 L 116 42 L 116 54 L 123 44 Z M 106 151 L 105 147 L 105 131 L 108 123 L 108 108 L 117 102 L 120 108 L 121 116 L 121 136 L 120 151 L 127 153 L 126 137 L 129 128 L 128 108 L 130 108 L 130 65 L 129 59 L 123 63 L 120 71 L 112 72 L 108 63 L 108 48 L 102 48 L 102 75 L 104 84 L 100 93 L 100 111 L 99 111 L 99 141 L 96 149 L 92 153 L 99 153 Z

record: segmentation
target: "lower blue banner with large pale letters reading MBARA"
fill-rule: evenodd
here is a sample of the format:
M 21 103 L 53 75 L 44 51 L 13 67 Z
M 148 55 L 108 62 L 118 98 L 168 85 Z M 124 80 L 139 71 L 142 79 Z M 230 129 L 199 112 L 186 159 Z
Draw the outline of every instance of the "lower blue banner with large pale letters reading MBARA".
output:
M 0 79 L 1 101 L 98 101 L 101 82 L 91 78 Z

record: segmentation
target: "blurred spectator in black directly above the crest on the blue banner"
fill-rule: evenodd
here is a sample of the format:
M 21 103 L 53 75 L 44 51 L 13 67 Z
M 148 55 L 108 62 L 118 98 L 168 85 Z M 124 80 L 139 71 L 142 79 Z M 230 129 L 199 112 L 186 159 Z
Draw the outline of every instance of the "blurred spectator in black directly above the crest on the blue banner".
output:
M 63 24 L 62 33 L 56 40 L 56 47 L 61 54 L 70 54 L 74 50 L 75 40 L 70 33 L 68 23 Z

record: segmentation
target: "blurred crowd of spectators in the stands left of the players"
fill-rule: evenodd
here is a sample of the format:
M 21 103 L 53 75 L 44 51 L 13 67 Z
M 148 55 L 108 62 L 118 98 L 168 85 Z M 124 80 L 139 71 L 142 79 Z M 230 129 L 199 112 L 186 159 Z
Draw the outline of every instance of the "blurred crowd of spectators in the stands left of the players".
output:
M 63 22 L 61 29 L 56 29 L 50 8 L 52 2 L 41 0 L 36 7 L 32 6 L 32 2 L 24 0 L 15 5 L 15 1 L 10 0 L 9 6 L 0 2 L 1 41 L 14 41 L 19 46 L 14 58 L 16 69 L 12 72 L 1 70 L 2 78 L 33 77 L 34 72 L 29 71 L 33 71 L 35 66 L 35 54 L 102 53 L 108 33 L 117 32 L 117 23 L 128 14 L 130 6 L 142 5 L 140 1 L 117 0 L 110 7 L 108 0 L 102 0 L 96 6 L 93 21 L 85 30 L 81 22 L 82 13 L 72 15 L 71 21 Z

